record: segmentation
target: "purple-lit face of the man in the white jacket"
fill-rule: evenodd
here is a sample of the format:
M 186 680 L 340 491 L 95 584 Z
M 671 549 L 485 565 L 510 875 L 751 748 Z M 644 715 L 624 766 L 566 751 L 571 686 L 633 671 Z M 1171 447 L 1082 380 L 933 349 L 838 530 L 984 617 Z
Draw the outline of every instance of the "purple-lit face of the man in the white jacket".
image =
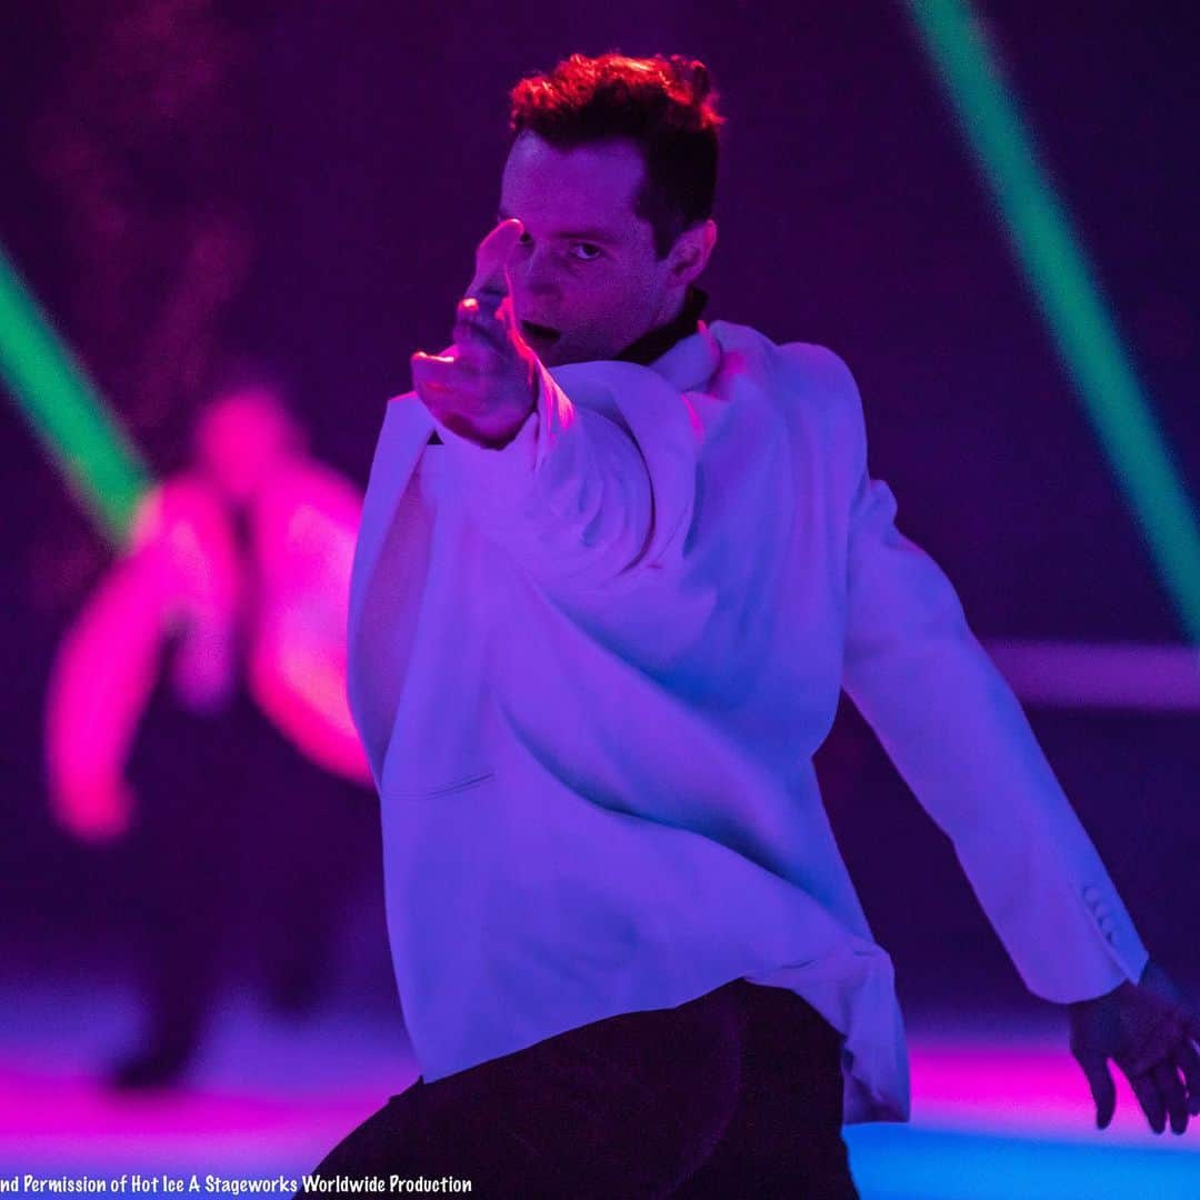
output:
M 499 216 L 524 224 L 509 262 L 512 308 L 546 366 L 613 358 L 674 317 L 683 286 L 634 214 L 644 174 L 629 140 L 560 150 L 528 131 L 516 139 Z

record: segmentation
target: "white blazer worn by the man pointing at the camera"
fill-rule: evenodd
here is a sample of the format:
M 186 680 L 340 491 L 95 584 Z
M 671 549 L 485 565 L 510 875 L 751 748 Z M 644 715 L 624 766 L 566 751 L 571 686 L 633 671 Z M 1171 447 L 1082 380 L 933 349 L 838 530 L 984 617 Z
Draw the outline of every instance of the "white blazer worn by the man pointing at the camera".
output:
M 355 554 L 350 706 L 427 1081 L 745 977 L 846 1036 L 847 1123 L 906 1120 L 892 962 L 812 770 L 842 686 L 1032 992 L 1140 976 L 1012 691 L 868 474 L 836 355 L 715 322 L 539 391 L 500 450 L 391 401 Z

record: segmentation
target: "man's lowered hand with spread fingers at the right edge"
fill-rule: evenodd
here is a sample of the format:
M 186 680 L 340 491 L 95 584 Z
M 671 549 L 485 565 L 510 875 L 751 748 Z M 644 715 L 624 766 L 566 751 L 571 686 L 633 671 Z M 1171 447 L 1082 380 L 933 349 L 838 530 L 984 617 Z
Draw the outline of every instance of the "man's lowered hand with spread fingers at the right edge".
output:
M 1106 1129 L 1116 1108 L 1109 1072 L 1112 1058 L 1124 1072 L 1154 1133 L 1188 1127 L 1200 1115 L 1200 1009 L 1190 1003 L 1156 962 L 1139 983 L 1122 983 L 1094 1000 L 1068 1004 L 1070 1052 L 1096 1100 L 1096 1124 Z M 1180 1076 L 1183 1076 L 1182 1080 Z

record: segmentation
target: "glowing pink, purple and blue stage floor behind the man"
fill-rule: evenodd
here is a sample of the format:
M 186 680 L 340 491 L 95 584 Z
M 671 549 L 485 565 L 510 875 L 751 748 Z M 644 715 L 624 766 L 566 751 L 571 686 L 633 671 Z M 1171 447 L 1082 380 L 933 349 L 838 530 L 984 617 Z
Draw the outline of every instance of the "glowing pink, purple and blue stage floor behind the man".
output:
M 120 1096 L 98 1073 L 137 1034 L 127 989 L 10 983 L 0 1010 L 0 1183 L 137 1174 L 163 1194 L 162 1176 L 186 1187 L 196 1174 L 205 1192 L 232 1194 L 206 1176 L 300 1177 L 416 1076 L 398 1008 L 343 1002 L 284 1020 L 233 995 L 186 1084 Z M 846 1130 L 864 1200 L 1200 1196 L 1200 1128 L 1156 1138 L 1120 1081 L 1114 1124 L 1096 1132 L 1057 1030 L 907 1021 L 912 1122 Z

